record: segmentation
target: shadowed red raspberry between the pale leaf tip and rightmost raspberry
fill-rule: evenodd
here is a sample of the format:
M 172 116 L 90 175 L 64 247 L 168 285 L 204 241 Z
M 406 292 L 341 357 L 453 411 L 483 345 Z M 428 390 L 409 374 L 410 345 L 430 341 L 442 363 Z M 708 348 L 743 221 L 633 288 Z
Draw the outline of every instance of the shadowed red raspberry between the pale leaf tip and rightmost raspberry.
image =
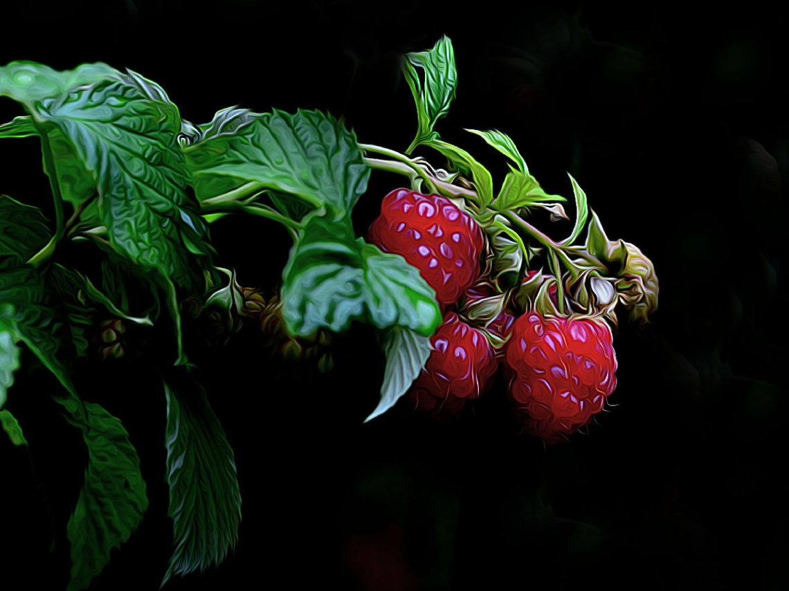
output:
M 435 416 L 459 413 L 466 401 L 490 389 L 499 361 L 481 331 L 454 312 L 444 316 L 430 342 L 435 350 L 414 380 L 409 402 Z

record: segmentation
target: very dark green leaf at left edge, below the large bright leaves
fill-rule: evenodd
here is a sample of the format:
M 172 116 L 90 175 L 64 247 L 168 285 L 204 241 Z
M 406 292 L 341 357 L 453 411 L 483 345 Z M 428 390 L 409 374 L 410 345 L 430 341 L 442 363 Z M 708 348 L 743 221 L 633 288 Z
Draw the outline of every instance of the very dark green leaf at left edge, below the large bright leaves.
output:
M 50 240 L 39 208 L 0 195 L 0 269 L 24 264 Z

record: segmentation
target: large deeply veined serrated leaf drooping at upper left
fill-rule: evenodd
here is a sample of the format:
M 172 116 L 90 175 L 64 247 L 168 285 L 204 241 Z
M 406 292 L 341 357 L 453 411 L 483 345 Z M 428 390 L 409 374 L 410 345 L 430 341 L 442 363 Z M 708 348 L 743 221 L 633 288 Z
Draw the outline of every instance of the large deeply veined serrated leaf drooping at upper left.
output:
M 50 106 L 48 121 L 73 144 L 92 174 L 99 215 L 114 248 L 133 264 L 199 293 L 199 259 L 191 256 L 182 237 L 201 245 L 208 241 L 208 228 L 186 194 L 176 143 L 178 109 L 155 85 L 140 80 L 129 73 L 77 90 Z M 203 249 L 203 267 L 210 258 Z

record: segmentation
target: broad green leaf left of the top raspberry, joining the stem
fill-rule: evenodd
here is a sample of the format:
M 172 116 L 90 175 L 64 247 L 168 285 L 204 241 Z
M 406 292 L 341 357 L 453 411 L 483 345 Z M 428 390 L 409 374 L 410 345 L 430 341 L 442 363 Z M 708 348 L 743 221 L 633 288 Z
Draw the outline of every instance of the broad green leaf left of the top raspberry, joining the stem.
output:
M 231 108 L 201 128 L 202 139 L 183 152 L 195 194 L 206 204 L 274 189 L 297 196 L 308 210 L 327 204 L 342 216 L 367 189 L 370 170 L 356 135 L 331 115 Z

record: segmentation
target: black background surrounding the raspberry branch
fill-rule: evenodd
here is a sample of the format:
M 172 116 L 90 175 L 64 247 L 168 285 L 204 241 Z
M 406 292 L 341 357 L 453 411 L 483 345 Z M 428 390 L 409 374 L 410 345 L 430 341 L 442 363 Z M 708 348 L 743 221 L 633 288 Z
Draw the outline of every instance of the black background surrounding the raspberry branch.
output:
M 548 193 L 571 196 L 569 171 L 608 236 L 638 245 L 660 279 L 652 325 L 620 316 L 619 406 L 548 451 L 518 436 L 501 380 L 453 425 L 402 405 L 362 425 L 384 363 L 365 327 L 337 343 L 335 371 L 320 380 L 269 361 L 252 333 L 206 355 L 238 466 L 241 537 L 219 569 L 166 588 L 789 588 L 787 21 L 750 4 L 520 5 L 3 5 L 0 64 L 107 62 L 161 84 L 193 123 L 235 104 L 329 110 L 361 141 L 398 150 L 416 129 L 398 55 L 446 33 L 458 98 L 443 137 L 496 184 L 503 157 L 462 128 L 508 133 Z M 2 100 L 0 114 L 22 113 Z M 35 138 L 3 140 L 0 192 L 51 219 L 40 162 Z M 399 185 L 372 175 L 354 213 L 360 234 Z M 571 229 L 536 223 L 556 239 Z M 275 286 L 284 230 L 229 217 L 211 236 L 217 264 L 236 267 L 242 285 Z M 129 360 L 83 383 L 84 398 L 124 421 L 150 499 L 91 589 L 157 589 L 172 540 L 161 383 Z M 9 391 L 30 447 L 0 436 L 4 589 L 68 581 L 65 523 L 87 458 L 50 400 L 57 387 L 23 368 Z

